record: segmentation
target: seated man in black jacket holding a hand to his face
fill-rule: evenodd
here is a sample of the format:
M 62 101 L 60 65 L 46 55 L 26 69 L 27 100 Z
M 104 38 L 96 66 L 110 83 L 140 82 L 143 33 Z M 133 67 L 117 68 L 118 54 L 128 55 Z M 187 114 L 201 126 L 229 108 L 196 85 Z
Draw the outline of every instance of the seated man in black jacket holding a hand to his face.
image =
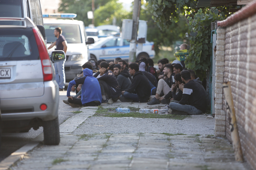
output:
M 98 79 L 101 86 L 101 103 L 108 102 L 108 104 L 112 104 L 114 101 L 118 100 L 118 97 L 121 95 L 121 90 L 114 73 L 108 70 L 108 68 L 109 64 L 106 61 L 102 61 L 100 63 L 100 70 L 93 75 L 93 77 Z M 109 100 L 106 99 L 106 95 Z

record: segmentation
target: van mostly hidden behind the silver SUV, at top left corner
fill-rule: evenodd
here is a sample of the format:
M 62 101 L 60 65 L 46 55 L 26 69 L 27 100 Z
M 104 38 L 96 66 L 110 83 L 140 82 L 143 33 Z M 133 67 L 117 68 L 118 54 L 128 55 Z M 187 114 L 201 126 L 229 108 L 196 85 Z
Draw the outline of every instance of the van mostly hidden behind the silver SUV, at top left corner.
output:
M 30 18 L 35 25 L 44 25 L 39 0 L 1 0 L 0 17 Z M 0 25 L 23 25 L 21 21 L 1 21 Z

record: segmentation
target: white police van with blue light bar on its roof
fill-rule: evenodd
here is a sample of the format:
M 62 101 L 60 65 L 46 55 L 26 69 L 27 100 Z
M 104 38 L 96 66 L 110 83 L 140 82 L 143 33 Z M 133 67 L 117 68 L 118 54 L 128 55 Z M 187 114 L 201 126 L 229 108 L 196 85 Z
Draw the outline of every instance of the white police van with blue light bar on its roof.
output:
M 89 38 L 87 41 L 85 26 L 82 21 L 56 18 L 74 18 L 76 14 L 43 14 L 45 35 L 47 38 L 47 47 L 56 41 L 53 32 L 56 27 L 61 27 L 62 35 L 67 41 L 66 62 L 64 64 L 66 81 L 73 80 L 82 71 L 82 65 L 90 59 L 88 47 L 90 44 Z M 93 41 L 94 43 L 94 41 Z M 49 49 L 49 53 L 54 50 L 54 47 Z

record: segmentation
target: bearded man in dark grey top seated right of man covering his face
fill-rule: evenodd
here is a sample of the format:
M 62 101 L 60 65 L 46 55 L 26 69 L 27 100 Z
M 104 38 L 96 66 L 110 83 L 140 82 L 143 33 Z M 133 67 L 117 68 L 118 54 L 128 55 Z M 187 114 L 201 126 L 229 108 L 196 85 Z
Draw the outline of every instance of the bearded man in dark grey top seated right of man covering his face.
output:
M 120 64 L 114 65 L 114 74 L 117 77 L 121 91 L 128 90 L 131 87 L 131 80 L 128 78 L 128 75 L 122 72 Z

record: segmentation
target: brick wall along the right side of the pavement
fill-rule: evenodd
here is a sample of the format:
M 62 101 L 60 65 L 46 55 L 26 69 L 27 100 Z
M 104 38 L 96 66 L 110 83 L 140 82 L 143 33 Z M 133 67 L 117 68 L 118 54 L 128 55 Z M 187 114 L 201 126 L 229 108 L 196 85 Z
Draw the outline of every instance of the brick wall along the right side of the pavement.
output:
M 223 30 L 225 30 L 225 50 L 222 51 L 222 43 L 219 43 L 220 48 L 217 43 L 217 58 L 220 53 L 219 57 L 224 60 L 222 82 L 231 82 L 242 152 L 245 160 L 256 170 L 256 14 L 225 29 L 218 29 L 217 41 L 218 31 L 222 35 Z M 222 82 L 216 81 L 216 87 L 217 83 Z M 225 129 L 217 128 L 215 135 L 222 135 L 225 132 L 226 137 L 231 141 L 228 115 L 225 112 L 225 98 L 222 94 L 216 93 L 215 96 L 217 95 L 222 97 L 222 104 L 215 105 L 215 109 L 218 109 L 216 116 L 222 114 L 224 116 L 216 119 L 215 131 L 219 124 L 222 126 L 220 122 L 223 118 Z

